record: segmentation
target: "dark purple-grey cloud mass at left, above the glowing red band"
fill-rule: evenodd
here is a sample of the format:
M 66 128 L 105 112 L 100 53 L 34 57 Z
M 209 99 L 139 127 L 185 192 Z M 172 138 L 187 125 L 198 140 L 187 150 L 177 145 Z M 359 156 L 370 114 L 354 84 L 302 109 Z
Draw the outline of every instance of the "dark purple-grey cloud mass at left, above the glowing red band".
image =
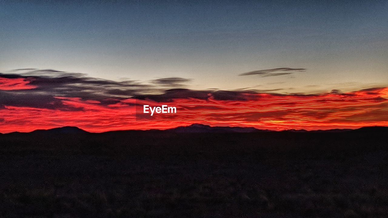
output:
M 149 98 L 155 101 L 168 101 L 177 97 L 205 99 L 209 93 L 208 91 L 169 89 L 192 81 L 178 77 L 160 78 L 152 80 L 153 84 L 144 84 L 135 80 L 105 80 L 82 73 L 53 69 L 30 68 L 14 71 L 26 72 L 0 73 L 0 96 L 2 97 L 0 106 L 24 105 L 47 109 L 78 110 L 79 108 L 69 108 L 60 104 L 61 101 L 55 97 L 97 100 L 101 104 L 111 104 L 127 98 Z

